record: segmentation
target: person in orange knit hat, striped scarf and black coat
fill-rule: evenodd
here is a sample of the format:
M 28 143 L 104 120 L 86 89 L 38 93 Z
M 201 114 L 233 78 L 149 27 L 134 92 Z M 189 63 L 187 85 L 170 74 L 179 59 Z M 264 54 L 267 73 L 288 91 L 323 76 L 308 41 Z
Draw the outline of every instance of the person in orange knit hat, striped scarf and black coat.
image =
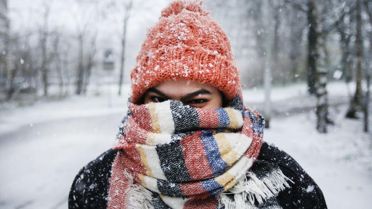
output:
M 227 35 L 201 2 L 147 32 L 112 149 L 84 166 L 69 208 L 327 208 L 313 179 L 263 142 Z

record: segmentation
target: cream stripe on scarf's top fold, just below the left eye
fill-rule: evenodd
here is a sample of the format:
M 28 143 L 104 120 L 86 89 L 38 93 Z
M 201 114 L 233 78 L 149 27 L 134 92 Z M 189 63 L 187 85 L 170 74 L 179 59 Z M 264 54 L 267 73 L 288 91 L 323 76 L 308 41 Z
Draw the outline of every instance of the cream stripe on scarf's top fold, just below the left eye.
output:
M 161 115 L 158 115 L 158 113 L 161 113 Z M 165 101 L 163 104 L 156 103 L 156 114 L 159 118 L 161 133 L 173 134 L 174 120 L 170 110 L 170 100 Z

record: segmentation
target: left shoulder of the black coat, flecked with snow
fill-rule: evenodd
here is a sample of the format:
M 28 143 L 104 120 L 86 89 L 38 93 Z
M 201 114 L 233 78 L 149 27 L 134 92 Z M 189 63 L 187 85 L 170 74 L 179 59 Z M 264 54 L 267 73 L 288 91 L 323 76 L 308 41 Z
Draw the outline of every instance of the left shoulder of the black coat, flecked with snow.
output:
M 110 171 L 117 153 L 109 149 L 80 169 L 71 185 L 68 208 L 106 208 Z

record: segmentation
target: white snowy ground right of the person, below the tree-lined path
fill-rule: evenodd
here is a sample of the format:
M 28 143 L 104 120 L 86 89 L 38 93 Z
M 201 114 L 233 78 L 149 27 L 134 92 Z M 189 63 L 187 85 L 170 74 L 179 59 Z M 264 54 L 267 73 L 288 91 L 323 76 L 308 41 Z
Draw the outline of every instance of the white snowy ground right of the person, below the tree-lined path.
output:
M 311 111 L 272 118 L 264 140 L 298 161 L 320 186 L 328 208 L 368 209 L 372 205 L 372 134 L 361 132 L 360 120 L 343 118 L 346 107 L 331 108 L 341 114 L 334 118 L 335 126 L 328 126 L 327 134 L 315 131 Z

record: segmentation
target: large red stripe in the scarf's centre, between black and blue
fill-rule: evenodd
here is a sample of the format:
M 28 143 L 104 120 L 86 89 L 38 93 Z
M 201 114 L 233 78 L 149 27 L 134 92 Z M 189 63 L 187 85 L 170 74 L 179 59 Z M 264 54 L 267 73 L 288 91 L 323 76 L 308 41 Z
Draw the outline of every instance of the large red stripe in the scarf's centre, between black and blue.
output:
M 209 179 L 213 174 L 200 133 L 201 131 L 195 132 L 180 140 L 187 171 L 192 180 Z

